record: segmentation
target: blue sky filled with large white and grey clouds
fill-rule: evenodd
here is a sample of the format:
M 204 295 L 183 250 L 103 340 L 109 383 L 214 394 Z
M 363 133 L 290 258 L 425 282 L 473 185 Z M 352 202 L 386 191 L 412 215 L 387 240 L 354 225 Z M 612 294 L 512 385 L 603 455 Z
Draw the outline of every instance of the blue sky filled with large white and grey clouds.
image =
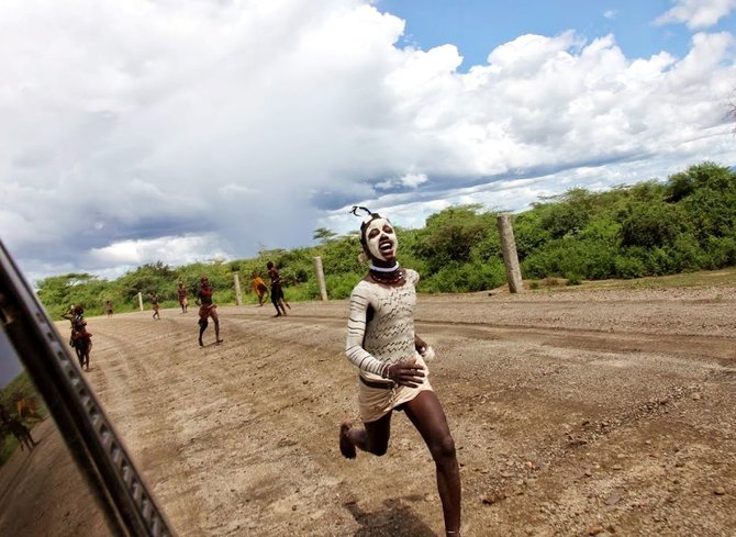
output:
M 736 165 L 736 0 L 4 0 L 31 282 Z

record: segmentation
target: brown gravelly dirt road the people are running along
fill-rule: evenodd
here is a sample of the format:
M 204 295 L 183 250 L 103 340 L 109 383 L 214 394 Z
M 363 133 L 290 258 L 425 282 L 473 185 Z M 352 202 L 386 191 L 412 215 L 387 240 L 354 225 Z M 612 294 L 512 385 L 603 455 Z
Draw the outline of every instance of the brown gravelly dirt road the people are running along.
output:
M 347 302 L 91 318 L 88 374 L 181 536 L 444 535 L 403 414 L 345 460 Z M 420 297 L 464 536 L 736 534 L 736 288 Z M 18 454 L 16 454 L 18 455 Z

